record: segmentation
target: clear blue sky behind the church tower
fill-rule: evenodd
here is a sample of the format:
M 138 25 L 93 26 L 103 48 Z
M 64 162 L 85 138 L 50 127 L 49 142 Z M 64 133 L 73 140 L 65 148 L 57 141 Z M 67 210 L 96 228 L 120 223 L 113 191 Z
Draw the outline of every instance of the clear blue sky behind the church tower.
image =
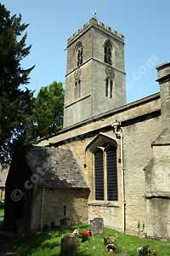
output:
M 38 91 L 54 80 L 65 83 L 67 38 L 92 17 L 125 36 L 127 102 L 159 90 L 155 67 L 170 60 L 168 0 L 2 0 L 11 14 L 29 23 L 31 54 L 24 67 L 36 65 L 29 88 Z

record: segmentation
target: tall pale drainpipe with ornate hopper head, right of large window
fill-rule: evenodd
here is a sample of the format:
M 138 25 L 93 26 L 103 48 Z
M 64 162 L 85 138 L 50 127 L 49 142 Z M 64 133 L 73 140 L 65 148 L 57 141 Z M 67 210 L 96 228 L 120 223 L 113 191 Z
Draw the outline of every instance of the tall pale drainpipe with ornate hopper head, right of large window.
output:
M 124 159 L 123 159 L 123 135 L 122 135 L 122 127 L 121 123 L 117 120 L 114 123 L 111 123 L 111 127 L 113 127 L 113 131 L 116 134 L 116 137 L 121 139 L 121 171 L 122 171 L 122 232 L 125 233 L 125 189 L 124 189 Z

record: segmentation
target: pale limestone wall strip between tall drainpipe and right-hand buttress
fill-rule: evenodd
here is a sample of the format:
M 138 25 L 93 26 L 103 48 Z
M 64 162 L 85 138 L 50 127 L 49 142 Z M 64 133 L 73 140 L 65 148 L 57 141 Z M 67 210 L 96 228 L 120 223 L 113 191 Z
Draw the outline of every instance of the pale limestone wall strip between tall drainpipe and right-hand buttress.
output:
M 161 117 L 123 128 L 127 231 L 146 224 L 144 167 L 152 157 L 151 143 L 161 130 Z

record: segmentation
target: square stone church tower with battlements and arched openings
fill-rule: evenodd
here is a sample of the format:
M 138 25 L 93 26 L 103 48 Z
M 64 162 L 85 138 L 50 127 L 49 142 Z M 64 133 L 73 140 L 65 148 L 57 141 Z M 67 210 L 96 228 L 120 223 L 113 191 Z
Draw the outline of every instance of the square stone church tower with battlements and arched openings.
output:
M 126 103 L 121 34 L 92 18 L 67 50 L 64 128 Z

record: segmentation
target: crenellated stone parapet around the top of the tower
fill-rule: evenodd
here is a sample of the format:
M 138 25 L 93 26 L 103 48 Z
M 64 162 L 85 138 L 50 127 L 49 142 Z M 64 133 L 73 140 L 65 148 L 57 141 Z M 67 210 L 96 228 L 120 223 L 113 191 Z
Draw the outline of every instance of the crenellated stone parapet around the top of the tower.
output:
M 107 32 L 111 34 L 112 37 L 117 38 L 118 40 L 124 43 L 124 36 L 121 33 L 116 32 L 116 30 L 111 29 L 110 26 L 105 26 L 103 22 L 96 20 L 95 18 L 90 19 L 87 23 L 85 23 L 82 28 L 80 28 L 77 32 L 75 32 L 71 38 L 68 38 L 68 45 L 71 44 L 76 38 L 82 35 L 83 32 L 87 31 L 91 26 L 99 28 L 99 30 Z

